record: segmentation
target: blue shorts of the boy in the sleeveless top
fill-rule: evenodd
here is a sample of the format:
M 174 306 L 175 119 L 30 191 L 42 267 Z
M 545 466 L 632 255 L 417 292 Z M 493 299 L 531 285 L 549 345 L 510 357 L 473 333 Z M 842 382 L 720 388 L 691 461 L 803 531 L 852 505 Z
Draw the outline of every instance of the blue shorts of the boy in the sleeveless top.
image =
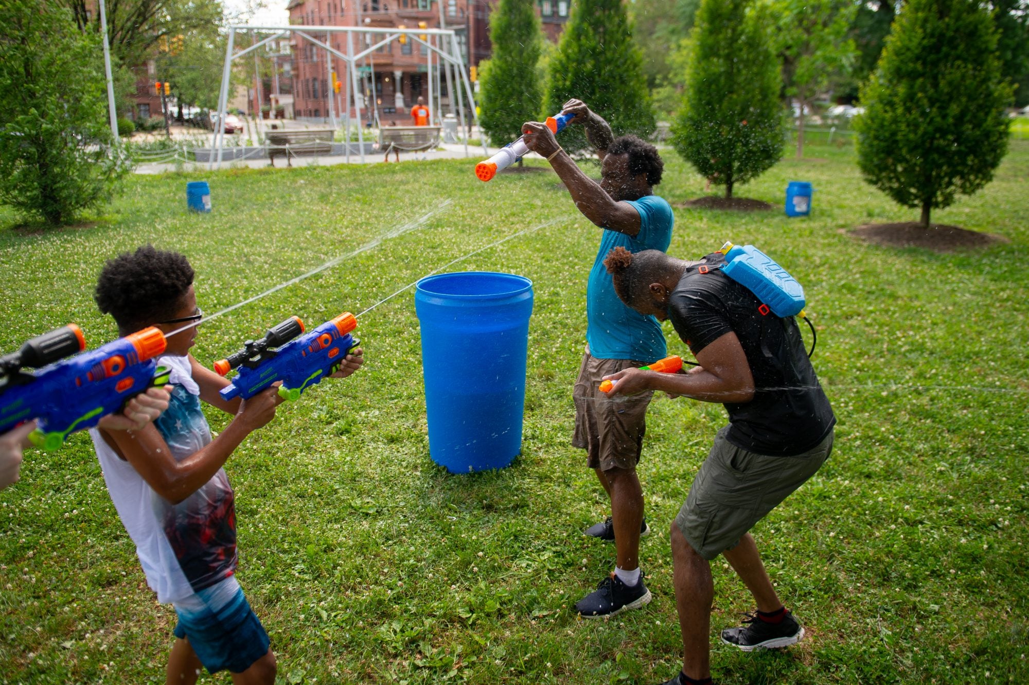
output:
M 189 641 L 209 673 L 243 673 L 268 653 L 264 626 L 235 577 L 175 603 L 175 637 Z

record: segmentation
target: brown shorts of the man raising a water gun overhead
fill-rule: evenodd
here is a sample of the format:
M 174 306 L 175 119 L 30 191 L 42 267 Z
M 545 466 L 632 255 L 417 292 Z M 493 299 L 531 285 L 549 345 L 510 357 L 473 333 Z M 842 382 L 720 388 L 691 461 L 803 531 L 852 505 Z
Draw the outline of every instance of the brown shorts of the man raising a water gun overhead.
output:
M 589 351 L 575 381 L 575 433 L 572 446 L 587 450 L 592 469 L 632 471 L 640 460 L 646 432 L 646 407 L 653 392 L 608 399 L 600 392 L 605 375 L 647 362 L 630 359 L 597 359 Z

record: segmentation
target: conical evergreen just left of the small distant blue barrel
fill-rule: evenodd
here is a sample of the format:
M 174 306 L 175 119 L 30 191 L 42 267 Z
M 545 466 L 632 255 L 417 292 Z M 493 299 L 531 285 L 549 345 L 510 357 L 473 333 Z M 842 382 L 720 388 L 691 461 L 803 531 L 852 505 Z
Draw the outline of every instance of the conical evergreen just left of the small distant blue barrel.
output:
M 775 165 L 785 143 L 779 62 L 752 0 L 703 0 L 686 98 L 672 144 L 712 182 L 733 187 Z

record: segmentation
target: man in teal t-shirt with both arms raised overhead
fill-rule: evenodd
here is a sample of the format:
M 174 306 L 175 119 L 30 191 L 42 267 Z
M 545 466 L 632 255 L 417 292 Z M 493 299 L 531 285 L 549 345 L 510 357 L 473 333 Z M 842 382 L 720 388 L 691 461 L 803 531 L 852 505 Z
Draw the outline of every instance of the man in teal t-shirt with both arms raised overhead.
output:
M 587 138 L 601 158 L 601 180 L 582 173 L 558 145 L 545 124 L 522 127 L 530 149 L 546 157 L 568 187 L 586 218 L 604 228 L 587 286 L 587 349 L 575 382 L 575 434 L 572 444 L 587 450 L 611 500 L 611 515 L 586 535 L 613 541 L 614 573 L 575 605 L 583 618 L 611 616 L 650 601 L 639 568 L 640 537 L 649 533 L 643 518 L 643 489 L 636 475 L 651 393 L 618 401 L 607 399 L 599 386 L 605 375 L 644 366 L 666 356 L 665 336 L 652 316 L 626 307 L 614 292 L 603 260 L 615 247 L 630 252 L 668 250 L 672 208 L 653 194 L 664 163 L 657 148 L 635 136 L 615 139 L 607 121 L 579 100 L 565 103 L 571 123 L 586 127 Z

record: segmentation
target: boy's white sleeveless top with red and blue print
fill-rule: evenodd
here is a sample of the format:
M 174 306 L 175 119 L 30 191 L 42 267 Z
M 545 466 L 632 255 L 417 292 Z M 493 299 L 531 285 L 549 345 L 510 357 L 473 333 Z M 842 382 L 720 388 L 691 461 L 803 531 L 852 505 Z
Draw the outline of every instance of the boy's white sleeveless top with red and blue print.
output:
M 171 369 L 169 408 L 155 422 L 172 456 L 181 461 L 211 441 L 200 410 L 200 387 L 188 357 L 157 360 Z M 90 430 L 107 492 L 129 537 L 136 543 L 147 584 L 157 601 L 185 600 L 233 575 L 236 570 L 236 514 L 233 489 L 223 469 L 178 504 L 150 488 L 132 465 L 111 449 L 100 432 Z

